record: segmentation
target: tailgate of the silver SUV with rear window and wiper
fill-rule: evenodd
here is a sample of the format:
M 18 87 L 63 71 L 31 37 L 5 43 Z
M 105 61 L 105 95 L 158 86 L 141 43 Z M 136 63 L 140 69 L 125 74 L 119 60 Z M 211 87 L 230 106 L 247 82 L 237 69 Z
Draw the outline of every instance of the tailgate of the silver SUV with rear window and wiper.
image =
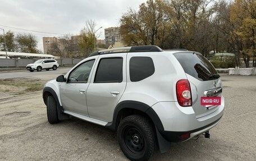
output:
M 220 75 L 213 65 L 200 53 L 183 52 L 173 55 L 180 62 L 190 82 L 192 107 L 196 118 L 216 111 L 218 105 L 201 105 L 200 102 L 204 96 L 222 96 Z

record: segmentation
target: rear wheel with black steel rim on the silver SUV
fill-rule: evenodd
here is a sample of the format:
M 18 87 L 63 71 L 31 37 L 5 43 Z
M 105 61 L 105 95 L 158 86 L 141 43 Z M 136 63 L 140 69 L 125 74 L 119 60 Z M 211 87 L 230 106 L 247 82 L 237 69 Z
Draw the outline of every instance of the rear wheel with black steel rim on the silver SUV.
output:
M 117 129 L 117 139 L 130 160 L 148 160 L 157 149 L 156 132 L 144 116 L 131 115 L 122 119 Z

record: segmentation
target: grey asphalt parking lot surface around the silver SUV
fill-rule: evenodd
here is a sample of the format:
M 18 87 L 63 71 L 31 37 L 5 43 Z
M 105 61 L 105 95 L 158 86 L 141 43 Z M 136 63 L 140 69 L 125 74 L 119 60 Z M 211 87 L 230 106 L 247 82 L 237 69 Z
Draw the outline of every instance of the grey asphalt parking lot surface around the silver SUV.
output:
M 221 78 L 226 109 L 211 139 L 173 143 L 153 160 L 255 160 L 256 76 Z M 115 132 L 76 118 L 49 124 L 42 91 L 0 100 L 0 145 L 0 160 L 127 160 Z

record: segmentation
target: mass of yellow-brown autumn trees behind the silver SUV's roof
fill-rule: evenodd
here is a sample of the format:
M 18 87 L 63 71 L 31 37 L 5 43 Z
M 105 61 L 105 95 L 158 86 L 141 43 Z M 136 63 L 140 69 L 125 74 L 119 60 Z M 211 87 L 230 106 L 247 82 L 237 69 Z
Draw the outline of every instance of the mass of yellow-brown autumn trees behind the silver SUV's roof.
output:
M 120 19 L 125 45 L 232 52 L 255 66 L 256 1 L 148 0 Z

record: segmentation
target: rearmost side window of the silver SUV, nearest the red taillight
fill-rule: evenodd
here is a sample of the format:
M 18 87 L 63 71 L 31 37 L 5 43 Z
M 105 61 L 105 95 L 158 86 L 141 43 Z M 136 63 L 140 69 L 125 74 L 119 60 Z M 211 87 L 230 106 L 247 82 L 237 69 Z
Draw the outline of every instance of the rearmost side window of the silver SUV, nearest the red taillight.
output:
M 132 57 L 129 65 L 130 80 L 132 82 L 141 81 L 152 76 L 155 68 L 150 57 Z

